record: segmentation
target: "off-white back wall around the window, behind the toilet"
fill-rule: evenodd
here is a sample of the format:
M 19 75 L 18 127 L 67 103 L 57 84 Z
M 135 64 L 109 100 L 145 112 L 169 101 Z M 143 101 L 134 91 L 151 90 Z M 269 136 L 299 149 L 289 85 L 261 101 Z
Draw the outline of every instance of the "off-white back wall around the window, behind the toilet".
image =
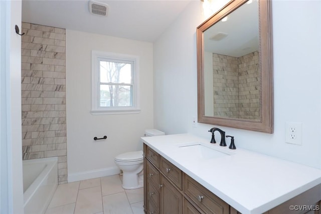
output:
M 66 30 L 68 181 L 115 174 L 114 157 L 142 149 L 153 125 L 152 44 Z M 91 51 L 139 56 L 139 114 L 92 115 Z M 106 140 L 93 138 L 106 135 Z

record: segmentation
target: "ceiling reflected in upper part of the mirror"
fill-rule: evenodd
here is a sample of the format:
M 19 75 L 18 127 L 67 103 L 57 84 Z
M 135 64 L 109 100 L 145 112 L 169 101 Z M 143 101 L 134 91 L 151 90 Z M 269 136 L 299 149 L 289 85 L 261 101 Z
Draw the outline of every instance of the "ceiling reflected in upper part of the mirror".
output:
M 228 21 L 220 21 L 205 31 L 205 51 L 232 57 L 241 57 L 258 51 L 258 2 L 251 1 L 250 4 L 244 4 L 228 17 Z M 226 37 L 219 40 L 211 39 L 220 33 Z

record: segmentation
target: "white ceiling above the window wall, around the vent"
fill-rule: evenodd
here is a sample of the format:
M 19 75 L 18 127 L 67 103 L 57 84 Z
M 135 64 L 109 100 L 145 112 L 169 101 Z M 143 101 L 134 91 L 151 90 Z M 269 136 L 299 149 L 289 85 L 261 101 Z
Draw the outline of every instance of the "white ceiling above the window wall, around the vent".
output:
M 103 17 L 91 15 L 85 0 L 23 0 L 22 21 L 153 42 L 191 1 L 196 0 L 97 1 L 109 6 L 108 16 Z

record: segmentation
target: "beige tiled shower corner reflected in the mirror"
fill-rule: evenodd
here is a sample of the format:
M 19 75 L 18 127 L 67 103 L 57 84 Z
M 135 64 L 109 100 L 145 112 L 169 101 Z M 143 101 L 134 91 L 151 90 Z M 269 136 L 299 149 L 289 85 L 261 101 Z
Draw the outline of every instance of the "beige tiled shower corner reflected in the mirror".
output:
M 214 116 L 260 119 L 259 55 L 213 53 Z

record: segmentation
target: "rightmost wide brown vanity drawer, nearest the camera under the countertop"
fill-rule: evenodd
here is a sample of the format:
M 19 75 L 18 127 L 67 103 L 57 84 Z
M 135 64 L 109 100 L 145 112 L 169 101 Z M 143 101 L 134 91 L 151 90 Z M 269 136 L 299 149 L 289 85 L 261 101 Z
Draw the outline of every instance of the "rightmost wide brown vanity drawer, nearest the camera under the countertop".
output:
M 184 193 L 206 213 L 229 213 L 229 205 L 193 178 L 184 175 Z

